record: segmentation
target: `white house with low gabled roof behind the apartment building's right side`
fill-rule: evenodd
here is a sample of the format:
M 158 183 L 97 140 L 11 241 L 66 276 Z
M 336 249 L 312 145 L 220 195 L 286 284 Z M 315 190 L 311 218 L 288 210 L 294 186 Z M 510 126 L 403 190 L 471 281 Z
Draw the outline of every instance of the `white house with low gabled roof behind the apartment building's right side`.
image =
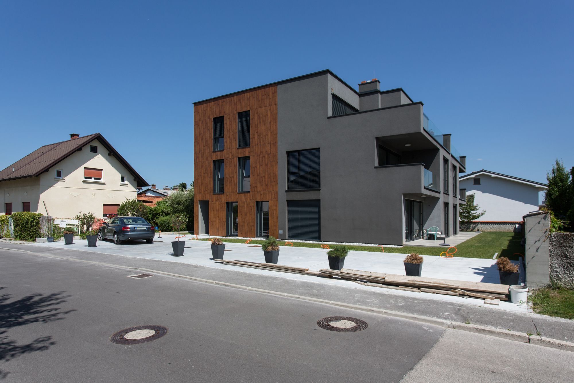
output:
M 474 193 L 474 203 L 486 214 L 481 223 L 519 223 L 522 216 L 538 210 L 538 196 L 545 183 L 479 170 L 459 177 L 460 189 Z

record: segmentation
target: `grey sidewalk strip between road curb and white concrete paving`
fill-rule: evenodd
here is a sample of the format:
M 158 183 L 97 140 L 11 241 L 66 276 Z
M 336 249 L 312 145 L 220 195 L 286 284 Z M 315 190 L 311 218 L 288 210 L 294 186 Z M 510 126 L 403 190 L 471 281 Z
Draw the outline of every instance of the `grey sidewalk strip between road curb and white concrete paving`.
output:
M 100 267 L 106 267 L 106 265 L 108 265 L 111 267 L 122 267 L 124 269 L 135 269 L 126 271 L 126 273 L 129 274 L 137 274 L 138 269 L 146 270 L 146 272 L 148 272 L 148 270 L 154 270 L 153 273 L 187 275 L 191 278 L 249 286 L 254 289 L 273 290 L 275 292 L 304 296 L 311 299 L 316 298 L 325 301 L 342 302 L 348 305 L 360 305 L 377 310 L 384 309 L 385 311 L 400 312 L 413 316 L 413 320 L 417 320 L 416 317 L 418 316 L 424 316 L 436 318 L 441 321 L 470 322 L 472 325 L 482 325 L 504 330 L 504 332 L 506 332 L 506 330 L 517 331 L 521 334 L 526 334 L 527 332 L 537 334 L 537 332 L 540 332 L 541 336 L 545 338 L 564 340 L 567 342 L 574 341 L 574 321 L 572 320 L 523 311 L 504 310 L 482 304 L 476 305 L 459 301 L 444 301 L 433 298 L 436 297 L 434 294 L 397 294 L 395 290 L 382 288 L 364 289 L 363 286 L 352 282 L 345 283 L 346 281 L 324 283 L 324 281 L 329 281 L 327 278 L 313 278 L 312 281 L 302 278 L 278 278 L 277 274 L 284 273 L 269 272 L 254 275 L 246 271 L 252 269 L 244 267 L 227 267 L 224 269 L 223 267 L 205 267 L 190 263 L 165 262 L 164 260 L 84 251 L 87 247 L 84 247 L 86 245 L 84 245 L 83 242 L 84 241 L 77 243 L 78 246 L 76 250 L 72 249 L 68 251 L 63 250 L 61 247 L 0 243 L 0 257 L 3 253 L 14 249 L 32 252 L 32 256 L 36 256 L 37 262 L 40 263 L 44 262 L 43 255 L 56 256 L 60 259 L 59 262 L 97 262 L 101 265 Z M 131 247 L 133 245 L 127 246 Z M 192 246 L 192 248 L 195 247 Z M 174 259 L 174 257 L 167 255 L 166 258 Z M 185 256 L 178 258 L 182 259 L 185 258 Z M 259 261 L 262 261 L 262 258 L 261 255 Z M 177 258 L 174 260 L 177 261 Z M 65 288 L 64 285 L 63 288 Z M 230 291 L 232 293 L 232 290 Z M 471 299 L 468 298 L 468 301 L 470 300 Z M 475 301 L 481 302 L 479 300 Z

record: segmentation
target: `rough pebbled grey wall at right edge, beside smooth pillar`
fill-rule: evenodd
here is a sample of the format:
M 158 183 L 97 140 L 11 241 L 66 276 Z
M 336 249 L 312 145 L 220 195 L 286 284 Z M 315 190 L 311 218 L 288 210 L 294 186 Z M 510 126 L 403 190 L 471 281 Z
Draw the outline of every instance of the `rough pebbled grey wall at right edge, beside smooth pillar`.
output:
M 550 235 L 550 281 L 574 288 L 574 233 Z

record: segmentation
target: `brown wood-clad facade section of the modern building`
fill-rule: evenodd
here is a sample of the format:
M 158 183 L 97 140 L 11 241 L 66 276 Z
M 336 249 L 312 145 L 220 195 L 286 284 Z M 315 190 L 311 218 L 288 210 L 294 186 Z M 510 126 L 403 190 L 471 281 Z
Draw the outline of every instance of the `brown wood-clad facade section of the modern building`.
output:
M 250 110 L 250 146 L 238 148 L 238 113 Z M 224 117 L 224 150 L 214 151 L 213 119 Z M 208 204 L 212 236 L 226 235 L 226 203 L 238 202 L 238 236 L 254 237 L 255 202 L 269 201 L 269 234 L 277 238 L 277 86 L 268 85 L 203 102 L 193 108 L 195 216 Z M 249 192 L 238 191 L 238 158 L 250 157 Z M 224 160 L 224 193 L 214 193 L 214 160 Z M 205 201 L 208 201 L 207 203 Z

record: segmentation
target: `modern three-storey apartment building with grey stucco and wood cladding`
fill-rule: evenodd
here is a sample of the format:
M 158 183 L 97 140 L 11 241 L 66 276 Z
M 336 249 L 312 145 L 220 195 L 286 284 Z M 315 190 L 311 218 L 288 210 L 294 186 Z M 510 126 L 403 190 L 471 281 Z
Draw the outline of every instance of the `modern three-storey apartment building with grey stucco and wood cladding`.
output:
M 195 102 L 194 157 L 201 234 L 403 244 L 465 202 L 422 102 L 329 70 Z

